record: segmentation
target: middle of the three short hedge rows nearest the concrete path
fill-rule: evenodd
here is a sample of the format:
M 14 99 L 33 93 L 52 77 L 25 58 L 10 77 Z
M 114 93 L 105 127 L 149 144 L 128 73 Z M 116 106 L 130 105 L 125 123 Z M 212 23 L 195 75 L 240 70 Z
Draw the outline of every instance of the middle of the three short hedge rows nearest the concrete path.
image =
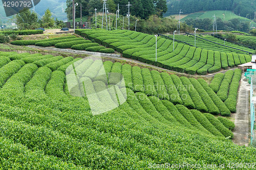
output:
M 228 70 L 227 72 L 225 72 L 224 78 L 221 82 L 220 89 L 217 92 L 217 95 L 223 102 L 225 102 L 225 100 L 227 99 L 228 89 L 229 89 L 229 85 L 231 83 L 233 74 L 234 74 L 233 70 Z

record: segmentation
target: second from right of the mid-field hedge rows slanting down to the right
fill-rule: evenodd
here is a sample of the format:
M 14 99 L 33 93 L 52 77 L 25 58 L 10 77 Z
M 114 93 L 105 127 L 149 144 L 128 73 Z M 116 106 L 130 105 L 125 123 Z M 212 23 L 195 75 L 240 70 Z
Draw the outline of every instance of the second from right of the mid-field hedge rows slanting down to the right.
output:
M 199 95 L 201 96 L 201 99 L 203 100 L 205 106 L 208 109 L 208 112 L 210 114 L 219 114 L 220 111 L 218 107 L 214 104 L 214 102 L 211 100 L 208 93 L 205 91 L 205 89 L 202 87 L 202 85 L 194 78 L 189 78 L 190 82 L 194 86 L 194 88 L 197 90 Z

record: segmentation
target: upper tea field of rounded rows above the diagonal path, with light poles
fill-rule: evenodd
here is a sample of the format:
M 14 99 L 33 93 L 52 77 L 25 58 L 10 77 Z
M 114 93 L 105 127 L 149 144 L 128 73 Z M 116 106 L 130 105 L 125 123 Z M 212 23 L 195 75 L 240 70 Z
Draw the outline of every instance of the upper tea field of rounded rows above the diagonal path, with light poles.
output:
M 127 30 L 77 30 L 76 33 L 113 48 L 123 57 L 191 75 L 206 75 L 251 61 L 250 55 L 202 50 L 159 37 L 156 61 L 156 38 L 152 35 Z

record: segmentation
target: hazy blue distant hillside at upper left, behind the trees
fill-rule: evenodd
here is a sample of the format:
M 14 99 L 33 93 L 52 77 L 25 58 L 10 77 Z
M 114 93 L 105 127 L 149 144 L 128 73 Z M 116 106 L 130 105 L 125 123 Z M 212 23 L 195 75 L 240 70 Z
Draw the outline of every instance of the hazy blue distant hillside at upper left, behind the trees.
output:
M 50 4 L 50 5 L 49 5 Z M 35 12 L 39 15 L 39 18 L 45 14 L 45 11 L 49 8 L 52 12 L 52 16 L 54 18 L 58 18 L 59 20 L 66 20 L 67 14 L 65 13 L 65 9 L 67 8 L 66 1 L 59 1 L 59 0 L 41 0 L 35 6 Z M 33 9 L 33 8 L 31 8 Z M 12 18 L 6 17 L 5 10 L 3 7 L 3 3 L 0 2 L 0 19 L 3 21 L 8 21 L 8 19 Z

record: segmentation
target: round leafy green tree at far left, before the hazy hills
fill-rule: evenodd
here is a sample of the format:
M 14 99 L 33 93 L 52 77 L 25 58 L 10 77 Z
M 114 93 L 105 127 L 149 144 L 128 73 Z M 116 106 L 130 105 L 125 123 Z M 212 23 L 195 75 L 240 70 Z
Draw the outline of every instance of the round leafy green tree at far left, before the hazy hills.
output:
M 32 30 L 39 27 L 37 14 L 27 8 L 13 15 L 11 21 L 16 23 L 19 30 Z

